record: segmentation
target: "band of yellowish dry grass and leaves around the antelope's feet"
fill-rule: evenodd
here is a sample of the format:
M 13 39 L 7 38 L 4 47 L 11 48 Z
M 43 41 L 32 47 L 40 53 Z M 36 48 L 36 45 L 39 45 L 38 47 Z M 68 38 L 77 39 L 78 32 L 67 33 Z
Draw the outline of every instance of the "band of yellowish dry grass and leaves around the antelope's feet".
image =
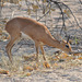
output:
M 82 65 L 82 54 L 80 56 L 78 55 L 78 57 L 68 56 L 67 54 L 60 54 L 58 56 L 46 55 L 47 62 L 44 61 L 43 56 L 39 55 L 39 63 L 36 62 L 35 55 L 13 56 L 13 65 L 10 63 L 9 58 L 5 57 L 2 51 L 1 54 L 0 68 L 7 71 L 7 73 L 0 72 L 1 74 L 9 74 L 10 77 L 28 77 L 36 71 L 44 71 L 47 69 L 68 69 Z

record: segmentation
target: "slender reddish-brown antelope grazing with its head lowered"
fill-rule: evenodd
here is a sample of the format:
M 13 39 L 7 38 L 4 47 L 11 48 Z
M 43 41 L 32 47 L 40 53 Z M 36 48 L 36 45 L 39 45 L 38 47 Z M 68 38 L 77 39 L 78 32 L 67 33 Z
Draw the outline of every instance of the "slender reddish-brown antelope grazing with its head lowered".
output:
M 36 60 L 38 61 L 38 47 L 40 47 L 43 58 L 46 60 L 44 55 L 43 45 L 48 45 L 55 48 L 59 48 L 67 54 L 71 54 L 71 46 L 66 40 L 59 37 L 54 38 L 48 31 L 48 28 L 28 17 L 14 17 L 10 20 L 5 25 L 5 31 L 10 34 L 11 39 L 7 45 L 5 49 L 9 56 L 10 61 L 12 62 L 11 49 L 15 42 L 21 37 L 30 37 L 35 42 L 36 47 Z

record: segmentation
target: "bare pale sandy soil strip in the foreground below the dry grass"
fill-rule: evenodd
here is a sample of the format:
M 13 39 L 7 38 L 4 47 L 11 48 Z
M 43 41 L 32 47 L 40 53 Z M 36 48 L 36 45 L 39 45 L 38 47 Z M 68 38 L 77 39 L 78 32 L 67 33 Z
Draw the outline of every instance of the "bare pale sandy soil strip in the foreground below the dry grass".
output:
M 82 66 L 72 69 L 54 69 L 36 71 L 30 77 L 4 77 L 0 75 L 0 82 L 82 82 Z

